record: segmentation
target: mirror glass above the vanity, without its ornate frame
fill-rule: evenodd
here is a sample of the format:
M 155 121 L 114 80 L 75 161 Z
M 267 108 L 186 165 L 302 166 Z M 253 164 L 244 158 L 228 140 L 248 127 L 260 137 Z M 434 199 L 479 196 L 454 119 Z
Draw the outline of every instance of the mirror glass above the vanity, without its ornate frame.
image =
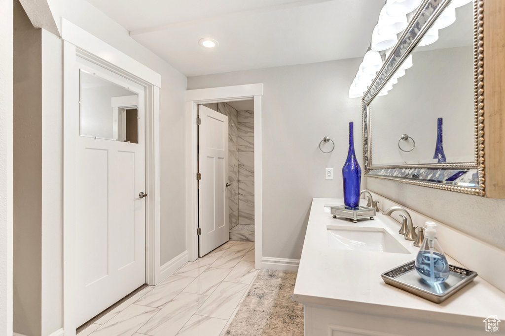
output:
M 449 5 L 372 100 L 370 118 L 373 166 L 474 162 L 472 2 Z

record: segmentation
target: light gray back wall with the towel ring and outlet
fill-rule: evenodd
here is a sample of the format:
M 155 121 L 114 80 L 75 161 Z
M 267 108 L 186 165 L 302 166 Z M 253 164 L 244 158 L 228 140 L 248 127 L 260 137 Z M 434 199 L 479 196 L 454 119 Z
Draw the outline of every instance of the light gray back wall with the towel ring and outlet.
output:
M 264 85 L 265 257 L 299 258 L 312 198 L 342 197 L 349 121 L 356 125 L 356 153 L 362 162 L 361 101 L 347 97 L 360 62 L 355 58 L 188 78 L 188 90 Z M 335 142 L 331 154 L 319 151 L 325 136 Z M 334 169 L 333 180 L 325 180 L 325 168 Z

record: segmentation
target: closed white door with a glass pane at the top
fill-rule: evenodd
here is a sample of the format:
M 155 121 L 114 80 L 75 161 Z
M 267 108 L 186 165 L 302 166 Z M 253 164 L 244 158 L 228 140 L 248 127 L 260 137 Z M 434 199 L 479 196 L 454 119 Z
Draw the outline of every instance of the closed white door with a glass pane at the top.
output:
M 145 199 L 139 197 L 145 137 L 143 87 L 84 59 L 78 66 L 75 316 L 81 325 L 145 283 Z

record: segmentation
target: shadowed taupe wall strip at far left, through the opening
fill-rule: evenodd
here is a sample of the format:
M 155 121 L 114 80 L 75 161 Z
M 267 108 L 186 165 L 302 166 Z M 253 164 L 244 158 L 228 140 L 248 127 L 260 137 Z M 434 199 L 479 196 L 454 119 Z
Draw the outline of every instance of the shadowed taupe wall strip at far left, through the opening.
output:
M 14 2 L 14 331 L 41 334 L 42 31 Z

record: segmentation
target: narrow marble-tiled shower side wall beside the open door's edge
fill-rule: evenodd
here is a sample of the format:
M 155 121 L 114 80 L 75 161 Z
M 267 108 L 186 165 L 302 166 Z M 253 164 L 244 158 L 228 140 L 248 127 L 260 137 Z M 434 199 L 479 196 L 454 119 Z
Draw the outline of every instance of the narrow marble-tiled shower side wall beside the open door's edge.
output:
M 228 207 L 230 230 L 238 225 L 238 112 L 226 103 L 217 104 L 218 112 L 228 116 Z

